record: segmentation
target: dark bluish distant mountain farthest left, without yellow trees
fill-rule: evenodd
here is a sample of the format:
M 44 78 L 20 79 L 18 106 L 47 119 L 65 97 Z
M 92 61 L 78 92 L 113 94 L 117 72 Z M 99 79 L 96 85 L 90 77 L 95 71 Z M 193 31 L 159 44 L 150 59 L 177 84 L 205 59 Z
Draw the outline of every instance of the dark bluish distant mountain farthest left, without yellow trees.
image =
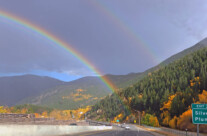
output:
M 64 82 L 34 75 L 0 77 L 0 105 L 11 106 L 20 100 L 39 95 Z

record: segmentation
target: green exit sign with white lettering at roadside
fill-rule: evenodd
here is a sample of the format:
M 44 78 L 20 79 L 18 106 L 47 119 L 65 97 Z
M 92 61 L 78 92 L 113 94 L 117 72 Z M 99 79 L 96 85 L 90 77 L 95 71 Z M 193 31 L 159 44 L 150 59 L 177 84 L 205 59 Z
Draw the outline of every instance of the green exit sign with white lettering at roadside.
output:
M 193 124 L 207 124 L 207 104 L 192 104 Z

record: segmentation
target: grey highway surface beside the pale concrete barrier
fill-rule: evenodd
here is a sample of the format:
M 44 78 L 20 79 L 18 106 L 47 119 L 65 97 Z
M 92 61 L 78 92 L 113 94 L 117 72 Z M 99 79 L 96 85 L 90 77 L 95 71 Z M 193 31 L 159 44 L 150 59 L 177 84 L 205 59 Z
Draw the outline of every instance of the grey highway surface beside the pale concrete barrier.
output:
M 113 126 L 112 130 L 106 131 L 94 131 L 94 132 L 86 132 L 86 133 L 79 133 L 73 134 L 73 136 L 153 136 L 151 133 L 137 128 L 136 126 L 129 125 L 130 130 L 125 130 L 124 128 Z M 72 135 L 67 135 L 72 136 Z

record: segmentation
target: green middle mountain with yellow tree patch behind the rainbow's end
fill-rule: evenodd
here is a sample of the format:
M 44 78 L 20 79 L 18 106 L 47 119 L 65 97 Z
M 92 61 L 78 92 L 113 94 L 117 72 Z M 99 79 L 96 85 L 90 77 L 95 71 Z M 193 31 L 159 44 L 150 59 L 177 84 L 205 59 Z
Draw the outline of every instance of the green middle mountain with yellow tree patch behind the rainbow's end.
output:
M 125 88 L 137 82 L 141 74 L 105 75 L 118 88 Z M 111 94 L 111 90 L 98 77 L 83 77 L 57 86 L 35 97 L 23 99 L 19 104 L 45 105 L 56 109 L 75 109 L 80 106 L 93 105 L 98 100 Z

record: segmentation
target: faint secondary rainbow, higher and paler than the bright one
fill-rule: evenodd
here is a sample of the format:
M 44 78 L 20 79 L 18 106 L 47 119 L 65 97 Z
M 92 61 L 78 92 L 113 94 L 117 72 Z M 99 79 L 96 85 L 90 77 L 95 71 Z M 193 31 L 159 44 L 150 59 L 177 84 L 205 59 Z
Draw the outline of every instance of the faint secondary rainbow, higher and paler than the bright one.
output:
M 98 11 L 100 11 L 106 18 L 108 18 L 111 22 L 114 23 L 115 27 L 118 27 L 118 29 L 121 29 L 126 36 L 129 39 L 132 39 L 135 43 L 136 46 L 140 46 L 142 50 L 150 56 L 150 58 L 153 60 L 154 64 L 159 64 L 160 60 L 158 57 L 155 55 L 155 53 L 150 49 L 150 47 L 143 41 L 141 40 L 141 36 L 138 35 L 133 28 L 131 28 L 123 19 L 121 19 L 118 15 L 115 14 L 111 9 L 109 9 L 103 1 L 99 0 L 91 0 L 89 1 L 91 5 L 96 8 Z

